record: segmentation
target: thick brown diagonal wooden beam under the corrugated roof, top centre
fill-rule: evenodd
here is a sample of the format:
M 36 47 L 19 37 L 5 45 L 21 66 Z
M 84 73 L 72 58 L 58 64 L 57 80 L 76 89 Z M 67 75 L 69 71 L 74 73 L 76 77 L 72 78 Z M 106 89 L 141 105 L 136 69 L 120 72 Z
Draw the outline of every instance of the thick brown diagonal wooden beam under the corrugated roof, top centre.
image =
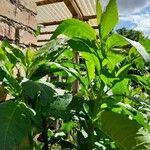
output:
M 80 12 L 74 0 L 64 0 L 64 3 L 68 7 L 69 11 L 71 12 L 74 18 L 82 19 L 82 13 Z

